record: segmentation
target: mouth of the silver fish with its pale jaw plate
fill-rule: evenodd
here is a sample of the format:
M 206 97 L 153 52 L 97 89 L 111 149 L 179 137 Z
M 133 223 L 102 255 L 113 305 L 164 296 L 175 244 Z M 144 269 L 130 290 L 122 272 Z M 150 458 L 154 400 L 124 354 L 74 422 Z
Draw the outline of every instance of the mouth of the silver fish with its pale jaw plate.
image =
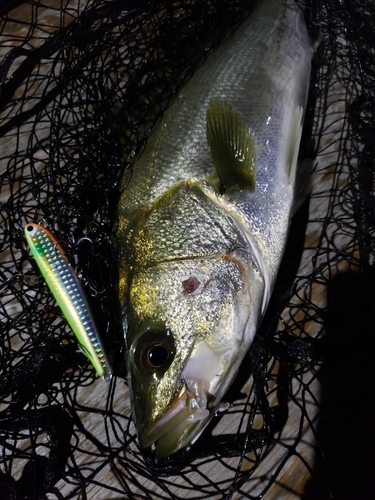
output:
M 155 455 L 165 458 L 192 444 L 216 412 L 211 391 L 220 373 L 218 356 L 201 342 L 181 372 L 179 388 L 167 411 L 143 435 L 143 447 L 154 445 Z

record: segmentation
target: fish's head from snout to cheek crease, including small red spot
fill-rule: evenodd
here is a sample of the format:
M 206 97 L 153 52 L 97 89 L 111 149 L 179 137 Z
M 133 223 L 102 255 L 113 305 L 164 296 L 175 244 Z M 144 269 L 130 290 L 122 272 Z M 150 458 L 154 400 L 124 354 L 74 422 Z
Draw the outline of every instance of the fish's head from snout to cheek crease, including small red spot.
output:
M 162 262 L 133 275 L 126 339 L 142 447 L 163 458 L 199 437 L 252 341 L 250 304 L 235 254 Z

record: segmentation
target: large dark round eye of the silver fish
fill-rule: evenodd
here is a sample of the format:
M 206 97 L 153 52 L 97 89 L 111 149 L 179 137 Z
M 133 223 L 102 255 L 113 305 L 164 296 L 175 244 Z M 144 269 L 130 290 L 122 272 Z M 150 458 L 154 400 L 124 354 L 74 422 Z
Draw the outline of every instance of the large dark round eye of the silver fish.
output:
M 173 337 L 166 330 L 149 328 L 135 341 L 132 351 L 143 372 L 165 372 L 174 357 Z

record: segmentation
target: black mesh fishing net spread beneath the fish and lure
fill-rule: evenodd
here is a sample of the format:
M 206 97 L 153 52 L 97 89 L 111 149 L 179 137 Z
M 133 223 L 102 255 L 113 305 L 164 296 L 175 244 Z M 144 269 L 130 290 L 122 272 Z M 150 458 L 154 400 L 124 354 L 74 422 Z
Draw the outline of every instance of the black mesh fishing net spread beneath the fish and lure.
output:
M 142 452 L 117 301 L 116 204 L 178 89 L 244 0 L 0 5 L 0 497 L 370 498 L 374 491 L 372 1 L 316 0 L 294 217 L 262 327 L 190 451 Z M 121 179 L 124 176 L 124 185 Z M 127 175 L 128 174 L 128 175 Z M 26 247 L 45 220 L 90 297 L 115 375 L 97 379 Z

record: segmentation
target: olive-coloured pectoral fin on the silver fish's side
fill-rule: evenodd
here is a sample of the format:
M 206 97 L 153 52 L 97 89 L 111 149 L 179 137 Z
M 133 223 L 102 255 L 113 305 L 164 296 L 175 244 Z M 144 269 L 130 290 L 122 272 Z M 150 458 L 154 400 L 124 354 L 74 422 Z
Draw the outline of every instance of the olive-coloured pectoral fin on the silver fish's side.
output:
M 222 99 L 207 109 L 207 140 L 222 193 L 254 191 L 255 140 L 242 115 Z

